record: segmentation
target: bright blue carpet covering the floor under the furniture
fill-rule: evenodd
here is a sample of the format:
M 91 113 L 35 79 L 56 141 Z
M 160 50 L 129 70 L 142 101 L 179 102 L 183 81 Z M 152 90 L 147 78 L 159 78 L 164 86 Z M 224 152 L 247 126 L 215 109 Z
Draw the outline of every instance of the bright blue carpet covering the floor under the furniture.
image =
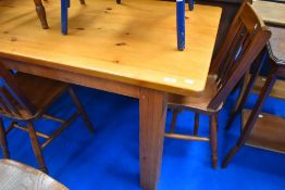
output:
M 140 189 L 138 101 L 84 87 L 75 89 L 96 126 L 96 132 L 90 135 L 83 119 L 78 118 L 48 145 L 44 153 L 50 175 L 72 190 Z M 238 122 L 230 131 L 224 130 L 234 100 L 235 96 L 230 97 L 219 115 L 219 165 L 238 137 Z M 247 106 L 252 106 L 255 101 L 256 97 L 251 96 Z M 74 111 L 70 105 L 72 102 L 65 94 L 49 112 L 66 117 Z M 269 99 L 264 110 L 285 116 L 284 107 L 284 101 Z M 168 127 L 170 119 L 171 113 L 168 113 Z M 190 132 L 193 121 L 193 113 L 183 112 L 177 130 Z M 209 134 L 208 122 L 207 116 L 201 117 L 200 134 Z M 52 131 L 59 124 L 40 121 L 36 125 L 41 131 Z M 13 160 L 37 166 L 27 134 L 14 130 L 8 140 Z M 165 139 L 158 189 L 284 190 L 285 155 L 244 147 L 228 168 L 213 170 L 208 142 Z

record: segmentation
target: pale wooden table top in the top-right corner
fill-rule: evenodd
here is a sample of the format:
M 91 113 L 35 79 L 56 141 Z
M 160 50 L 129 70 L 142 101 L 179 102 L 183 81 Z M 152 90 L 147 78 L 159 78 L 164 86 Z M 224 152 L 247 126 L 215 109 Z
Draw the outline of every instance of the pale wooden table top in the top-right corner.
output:
M 267 24 L 285 26 L 285 3 L 253 0 L 253 9 Z

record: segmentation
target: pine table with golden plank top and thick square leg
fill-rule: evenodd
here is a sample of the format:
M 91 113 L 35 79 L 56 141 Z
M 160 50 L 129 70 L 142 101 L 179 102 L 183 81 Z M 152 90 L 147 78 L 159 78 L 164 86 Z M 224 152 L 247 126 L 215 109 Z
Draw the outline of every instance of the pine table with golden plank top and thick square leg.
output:
M 221 9 L 196 4 L 195 11 L 186 12 L 189 33 L 186 49 L 181 52 L 173 47 L 174 2 L 125 1 L 127 5 L 108 13 L 104 11 L 114 7 L 113 0 L 90 1 L 84 10 L 74 5 L 70 10 L 70 35 L 64 37 L 58 33 L 58 3 L 50 3 L 48 9 L 52 12 L 49 30 L 38 29 L 33 22 L 34 10 L 26 1 L 18 0 L 16 9 L 2 5 L 0 60 L 24 73 L 139 99 L 140 185 L 156 189 L 168 94 L 201 96 Z M 82 16 L 82 11 L 88 16 Z M 16 20 L 18 14 L 25 16 Z

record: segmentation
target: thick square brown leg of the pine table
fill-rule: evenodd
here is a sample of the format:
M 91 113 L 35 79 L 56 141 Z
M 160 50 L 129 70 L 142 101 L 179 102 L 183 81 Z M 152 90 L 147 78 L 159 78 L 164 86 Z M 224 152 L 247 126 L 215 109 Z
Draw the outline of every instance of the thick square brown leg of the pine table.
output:
M 142 189 L 157 188 L 161 170 L 166 109 L 166 93 L 140 89 L 139 166 Z

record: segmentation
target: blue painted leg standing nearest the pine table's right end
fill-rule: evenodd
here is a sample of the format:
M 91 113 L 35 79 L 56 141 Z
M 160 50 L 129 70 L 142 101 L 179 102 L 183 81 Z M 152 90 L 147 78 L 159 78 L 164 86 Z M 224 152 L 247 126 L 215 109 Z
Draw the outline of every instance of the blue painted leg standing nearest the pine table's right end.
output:
M 185 0 L 176 0 L 177 48 L 185 49 Z

